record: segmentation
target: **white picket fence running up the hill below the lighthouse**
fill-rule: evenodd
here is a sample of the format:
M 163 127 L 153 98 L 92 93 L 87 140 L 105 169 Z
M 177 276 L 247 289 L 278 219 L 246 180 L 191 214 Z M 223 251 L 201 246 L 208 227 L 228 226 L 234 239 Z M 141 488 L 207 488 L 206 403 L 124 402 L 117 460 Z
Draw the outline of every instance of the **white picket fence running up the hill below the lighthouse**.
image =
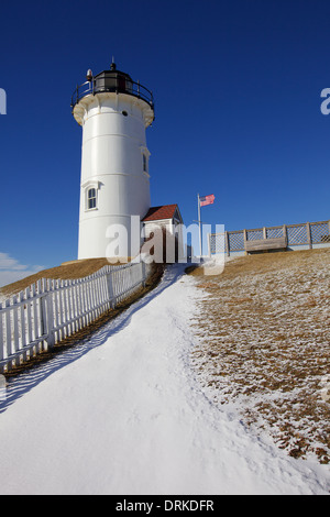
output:
M 0 304 L 0 372 L 29 361 L 145 284 L 152 265 L 105 266 L 85 278 L 42 278 Z

